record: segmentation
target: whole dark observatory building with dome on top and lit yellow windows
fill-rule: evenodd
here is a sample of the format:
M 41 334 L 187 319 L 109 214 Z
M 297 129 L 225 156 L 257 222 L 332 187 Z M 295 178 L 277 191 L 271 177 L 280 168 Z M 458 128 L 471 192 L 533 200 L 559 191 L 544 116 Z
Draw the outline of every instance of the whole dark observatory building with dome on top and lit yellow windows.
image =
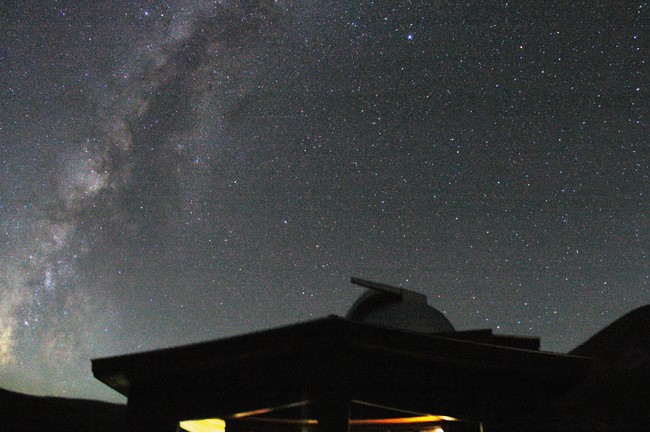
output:
M 352 278 L 345 318 L 92 361 L 130 430 L 531 430 L 590 358 L 457 331 L 411 290 Z

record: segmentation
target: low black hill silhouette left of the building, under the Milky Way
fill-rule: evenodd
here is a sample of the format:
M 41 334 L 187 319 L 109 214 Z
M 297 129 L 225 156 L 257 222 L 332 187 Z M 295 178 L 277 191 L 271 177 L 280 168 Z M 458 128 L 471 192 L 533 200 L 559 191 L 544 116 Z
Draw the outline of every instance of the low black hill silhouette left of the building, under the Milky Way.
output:
M 1 431 L 125 431 L 126 406 L 0 389 Z

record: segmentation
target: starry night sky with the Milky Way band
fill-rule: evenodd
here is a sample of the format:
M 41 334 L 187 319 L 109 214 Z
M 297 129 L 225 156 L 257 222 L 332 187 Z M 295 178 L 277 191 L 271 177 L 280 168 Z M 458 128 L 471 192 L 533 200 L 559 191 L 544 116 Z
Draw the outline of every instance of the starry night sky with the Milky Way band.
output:
M 328 314 L 567 352 L 650 302 L 646 1 L 0 4 L 0 387 Z

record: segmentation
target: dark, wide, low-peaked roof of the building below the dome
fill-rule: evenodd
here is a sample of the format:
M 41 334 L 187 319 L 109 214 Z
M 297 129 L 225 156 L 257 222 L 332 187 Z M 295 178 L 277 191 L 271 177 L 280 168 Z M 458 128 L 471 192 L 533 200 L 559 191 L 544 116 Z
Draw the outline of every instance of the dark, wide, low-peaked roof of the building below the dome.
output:
M 535 378 L 547 384 L 573 382 L 590 361 L 329 316 L 205 343 L 95 359 L 92 368 L 95 377 L 128 396 L 134 382 L 187 376 L 192 371 L 223 372 L 245 360 L 274 364 L 282 359 L 299 365 L 310 356 L 325 360 L 333 353 L 363 359 L 369 365 L 393 359 L 392 367 L 385 367 L 384 373 L 408 370 L 417 364 L 418 371 L 466 369 Z

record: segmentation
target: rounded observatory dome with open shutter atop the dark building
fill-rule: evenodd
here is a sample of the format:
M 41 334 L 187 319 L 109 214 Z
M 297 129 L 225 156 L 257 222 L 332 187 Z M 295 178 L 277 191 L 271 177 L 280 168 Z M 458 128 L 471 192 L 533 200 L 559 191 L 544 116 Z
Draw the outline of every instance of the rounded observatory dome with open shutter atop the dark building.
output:
M 421 293 L 359 278 L 352 278 L 352 282 L 370 290 L 355 301 L 348 319 L 415 332 L 454 332 L 449 319 L 430 306 Z

